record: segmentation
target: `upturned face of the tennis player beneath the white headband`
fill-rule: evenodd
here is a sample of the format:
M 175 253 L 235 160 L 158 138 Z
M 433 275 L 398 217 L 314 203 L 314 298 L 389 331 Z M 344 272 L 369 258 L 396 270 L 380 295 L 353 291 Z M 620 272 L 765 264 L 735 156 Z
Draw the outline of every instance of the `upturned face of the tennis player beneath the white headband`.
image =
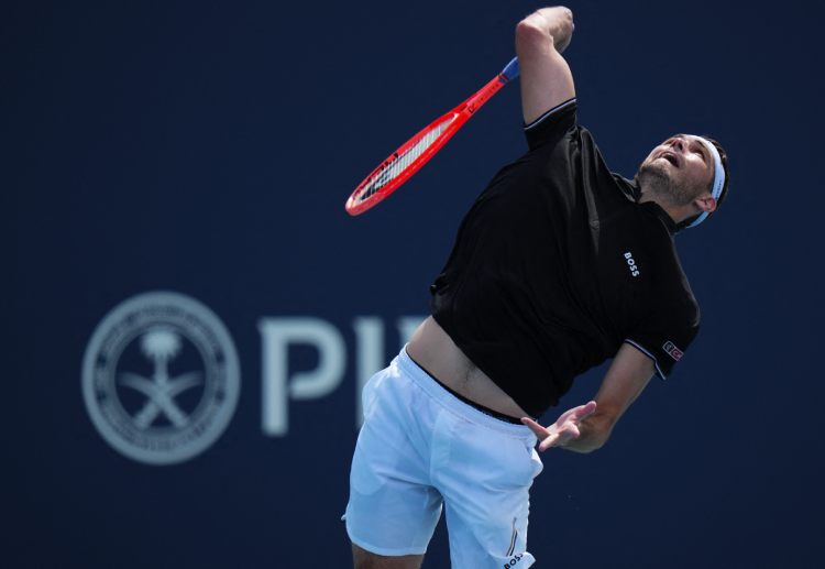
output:
M 640 172 L 667 179 L 674 200 L 689 203 L 711 192 L 713 167 L 713 157 L 697 136 L 676 134 L 652 150 Z

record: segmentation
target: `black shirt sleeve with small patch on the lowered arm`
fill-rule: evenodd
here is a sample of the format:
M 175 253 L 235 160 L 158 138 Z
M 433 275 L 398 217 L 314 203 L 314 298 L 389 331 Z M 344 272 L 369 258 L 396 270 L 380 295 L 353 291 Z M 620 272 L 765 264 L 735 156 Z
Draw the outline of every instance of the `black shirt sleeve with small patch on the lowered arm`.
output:
M 698 332 L 698 306 L 693 298 L 675 299 L 650 311 L 625 339 L 656 364 L 656 373 L 667 380 L 673 366 Z

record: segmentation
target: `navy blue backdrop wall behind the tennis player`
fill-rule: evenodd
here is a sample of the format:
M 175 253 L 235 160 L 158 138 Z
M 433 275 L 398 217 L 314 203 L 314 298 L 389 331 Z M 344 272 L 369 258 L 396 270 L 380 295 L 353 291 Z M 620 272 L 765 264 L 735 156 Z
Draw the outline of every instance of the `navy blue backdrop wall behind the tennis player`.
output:
M 703 328 L 673 377 L 598 452 L 543 455 L 537 566 L 814 567 L 821 18 L 801 1 L 569 6 L 580 121 L 608 164 L 630 176 L 660 140 L 698 132 L 733 176 L 718 216 L 678 237 Z M 538 4 L 8 8 L 0 565 L 346 567 L 359 382 L 426 314 L 464 210 L 525 150 L 518 87 L 374 211 L 343 201 L 509 61 Z M 164 291 L 199 308 L 109 326 Z M 190 370 L 179 397 L 156 391 Z M 210 397 L 224 415 L 193 431 L 200 448 L 169 439 L 211 420 Z M 129 455 L 139 437 L 106 426 L 107 401 L 122 428 L 143 413 L 154 458 Z M 440 528 L 425 567 L 448 565 Z

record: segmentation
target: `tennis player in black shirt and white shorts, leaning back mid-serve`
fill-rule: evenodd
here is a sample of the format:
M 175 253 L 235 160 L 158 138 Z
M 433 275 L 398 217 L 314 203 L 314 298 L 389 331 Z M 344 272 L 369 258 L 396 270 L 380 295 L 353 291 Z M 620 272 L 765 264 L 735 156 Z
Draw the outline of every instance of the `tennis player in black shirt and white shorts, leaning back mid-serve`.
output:
M 364 389 L 344 516 L 356 568 L 420 567 L 442 506 L 453 568 L 531 566 L 536 444 L 602 447 L 696 335 L 673 236 L 725 197 L 725 152 L 676 134 L 634 180 L 612 173 L 576 122 L 561 56 L 572 31 L 561 7 L 518 24 L 529 151 L 476 199 L 431 287 L 431 316 Z M 549 427 L 534 419 L 608 358 L 593 401 Z

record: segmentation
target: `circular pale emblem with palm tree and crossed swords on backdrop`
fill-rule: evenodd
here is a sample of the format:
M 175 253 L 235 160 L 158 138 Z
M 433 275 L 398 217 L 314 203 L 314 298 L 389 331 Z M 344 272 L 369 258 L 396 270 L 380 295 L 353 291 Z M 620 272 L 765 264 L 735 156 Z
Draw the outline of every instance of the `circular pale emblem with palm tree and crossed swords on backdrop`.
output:
M 82 394 L 91 422 L 122 455 L 174 464 L 229 425 L 241 377 L 232 339 L 199 302 L 145 293 L 114 307 L 86 348 Z

